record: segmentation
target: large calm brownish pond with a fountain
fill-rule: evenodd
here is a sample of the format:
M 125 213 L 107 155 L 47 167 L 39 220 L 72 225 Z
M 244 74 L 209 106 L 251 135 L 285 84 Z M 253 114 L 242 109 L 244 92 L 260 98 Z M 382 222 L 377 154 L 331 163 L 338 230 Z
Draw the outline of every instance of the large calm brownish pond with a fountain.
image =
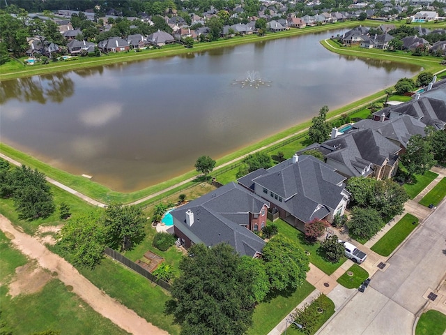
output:
M 117 191 L 150 186 L 420 71 L 320 45 L 341 33 L 3 81 L 0 140 Z

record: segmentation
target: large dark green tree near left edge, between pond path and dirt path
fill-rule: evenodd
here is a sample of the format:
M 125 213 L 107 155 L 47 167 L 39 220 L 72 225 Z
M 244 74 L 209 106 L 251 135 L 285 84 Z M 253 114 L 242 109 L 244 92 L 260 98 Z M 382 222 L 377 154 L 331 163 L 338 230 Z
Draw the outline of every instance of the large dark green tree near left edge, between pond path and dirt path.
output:
M 47 218 L 54 212 L 53 195 L 45 174 L 22 165 L 11 172 L 8 181 L 19 218 Z

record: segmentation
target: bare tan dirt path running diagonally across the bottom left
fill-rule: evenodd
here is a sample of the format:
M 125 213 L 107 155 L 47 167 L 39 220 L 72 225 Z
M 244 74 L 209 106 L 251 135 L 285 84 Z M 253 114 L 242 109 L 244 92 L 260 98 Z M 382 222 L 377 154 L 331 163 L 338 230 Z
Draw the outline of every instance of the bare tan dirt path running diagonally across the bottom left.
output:
M 14 237 L 12 243 L 27 255 L 29 258 L 37 260 L 39 265 L 49 271 L 56 271 L 58 278 L 65 283 L 71 285 L 73 290 L 95 311 L 103 315 L 105 318 L 112 320 L 118 327 L 121 327 L 132 334 L 141 335 L 167 335 L 167 332 L 153 326 L 141 318 L 131 309 L 119 304 L 118 301 L 112 299 L 104 292 L 95 287 L 84 276 L 79 274 L 75 267 L 58 255 L 49 251 L 45 246 L 40 244 L 37 239 L 24 234 L 15 229 L 10 221 L 0 215 L 0 229 L 8 233 L 8 237 Z M 11 236 L 13 235 L 13 236 Z

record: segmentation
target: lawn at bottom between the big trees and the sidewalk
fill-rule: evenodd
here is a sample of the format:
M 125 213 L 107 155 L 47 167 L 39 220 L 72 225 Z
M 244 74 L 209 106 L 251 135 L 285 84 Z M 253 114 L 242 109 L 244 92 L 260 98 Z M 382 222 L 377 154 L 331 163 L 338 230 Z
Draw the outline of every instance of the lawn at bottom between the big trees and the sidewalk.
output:
M 283 295 L 267 298 L 266 301 L 256 306 L 252 316 L 252 327 L 247 334 L 268 334 L 313 290 L 314 286 L 305 281 L 295 292 L 287 292 Z

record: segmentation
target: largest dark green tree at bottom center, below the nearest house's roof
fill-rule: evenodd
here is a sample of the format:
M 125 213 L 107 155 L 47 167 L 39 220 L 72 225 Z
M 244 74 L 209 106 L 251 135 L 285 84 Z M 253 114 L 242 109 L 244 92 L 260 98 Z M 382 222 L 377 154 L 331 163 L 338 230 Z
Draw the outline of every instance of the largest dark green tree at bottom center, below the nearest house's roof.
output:
M 245 334 L 252 324 L 252 278 L 229 244 L 195 244 L 171 286 L 181 334 Z M 223 280 L 224 278 L 224 280 Z

